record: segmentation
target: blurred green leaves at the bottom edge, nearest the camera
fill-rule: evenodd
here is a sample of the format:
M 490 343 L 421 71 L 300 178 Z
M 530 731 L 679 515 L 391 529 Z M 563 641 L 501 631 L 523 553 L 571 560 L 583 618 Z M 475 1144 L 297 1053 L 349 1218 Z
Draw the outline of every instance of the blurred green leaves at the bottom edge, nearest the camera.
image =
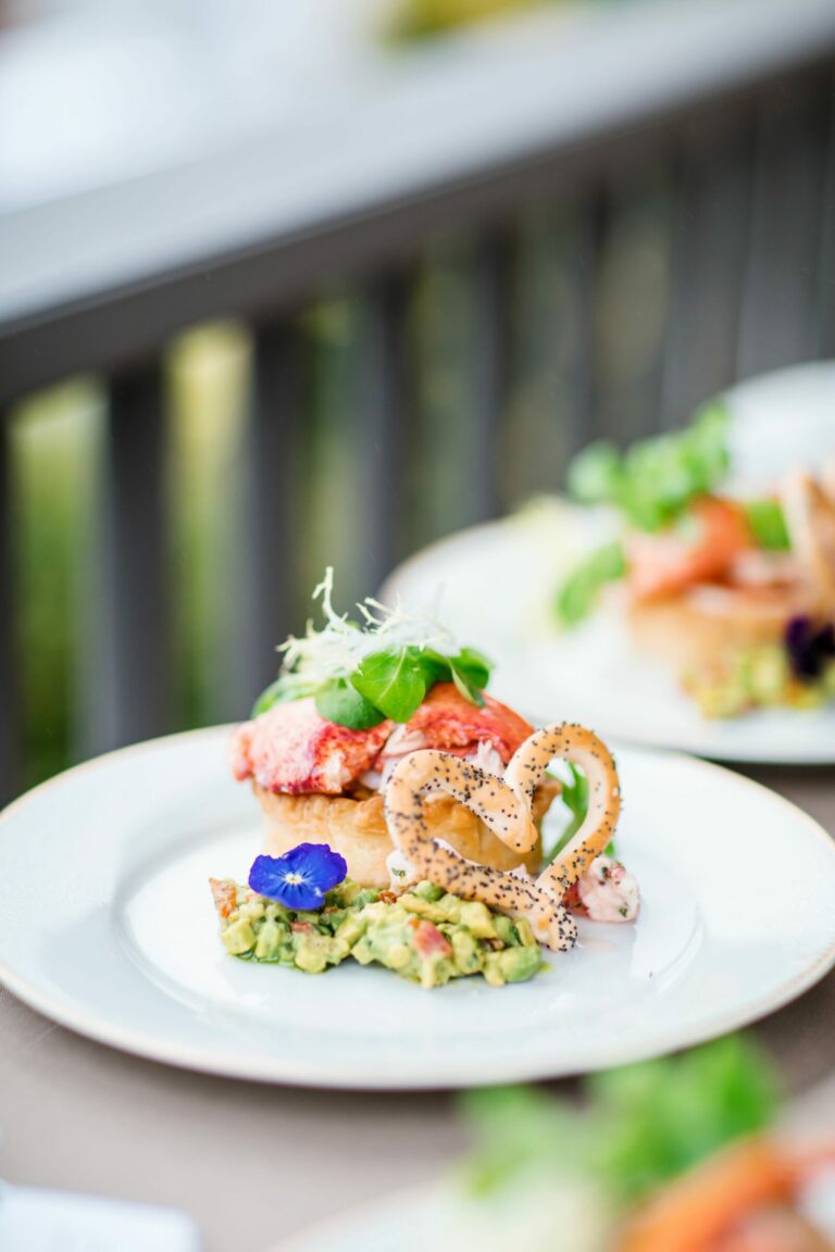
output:
M 476 1138 L 467 1189 L 511 1189 L 545 1164 L 585 1173 L 630 1207 L 734 1139 L 766 1129 L 777 1108 L 774 1069 L 744 1035 L 592 1075 L 586 1093 L 580 1109 L 540 1088 L 467 1094 Z

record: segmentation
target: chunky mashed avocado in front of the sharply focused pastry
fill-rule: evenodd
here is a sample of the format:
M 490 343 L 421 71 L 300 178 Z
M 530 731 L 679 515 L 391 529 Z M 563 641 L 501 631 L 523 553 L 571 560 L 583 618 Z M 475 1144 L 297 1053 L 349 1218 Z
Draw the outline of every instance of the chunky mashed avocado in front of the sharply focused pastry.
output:
M 402 895 L 361 888 L 347 879 L 328 891 L 318 913 L 298 913 L 257 895 L 232 879 L 213 883 L 220 938 L 242 960 L 288 965 L 322 974 L 353 957 L 378 964 L 422 987 L 482 974 L 491 987 L 523 983 L 542 965 L 523 919 L 492 913 L 431 883 Z

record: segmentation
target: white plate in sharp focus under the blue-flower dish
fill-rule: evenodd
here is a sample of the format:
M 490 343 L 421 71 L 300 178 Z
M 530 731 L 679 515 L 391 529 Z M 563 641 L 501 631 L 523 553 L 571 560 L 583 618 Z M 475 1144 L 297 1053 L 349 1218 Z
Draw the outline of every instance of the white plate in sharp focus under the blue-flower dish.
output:
M 48 1017 L 173 1064 L 318 1087 L 468 1085 L 680 1048 L 799 995 L 835 962 L 835 845 L 770 791 L 618 755 L 633 926 L 581 923 L 552 969 L 424 992 L 227 957 L 209 875 L 247 874 L 260 820 L 224 727 L 125 749 L 0 819 L 0 978 Z

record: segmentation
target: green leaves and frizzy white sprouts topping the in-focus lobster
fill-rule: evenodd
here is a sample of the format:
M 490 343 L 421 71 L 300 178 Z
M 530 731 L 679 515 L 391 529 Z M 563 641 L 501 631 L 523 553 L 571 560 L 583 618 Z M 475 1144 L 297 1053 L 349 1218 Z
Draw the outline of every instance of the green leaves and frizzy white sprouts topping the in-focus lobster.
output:
M 328 721 L 366 730 L 383 719 L 404 722 L 436 682 L 454 682 L 471 704 L 482 705 L 491 664 L 471 647 L 459 647 L 432 616 L 387 608 L 377 600 L 358 605 L 362 625 L 332 605 L 333 570 L 313 592 L 322 598 L 324 626 L 308 622 L 302 639 L 290 636 L 275 682 L 258 697 L 257 717 L 275 704 L 313 696 Z

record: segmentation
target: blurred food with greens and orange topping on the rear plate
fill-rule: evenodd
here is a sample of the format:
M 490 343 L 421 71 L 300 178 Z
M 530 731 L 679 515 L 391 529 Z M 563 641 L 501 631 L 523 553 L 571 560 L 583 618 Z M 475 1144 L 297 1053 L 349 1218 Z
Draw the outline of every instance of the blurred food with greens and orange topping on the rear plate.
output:
M 712 404 L 626 453 L 586 448 L 571 492 L 613 510 L 618 536 L 565 578 L 557 617 L 620 615 L 706 716 L 820 706 L 835 697 L 835 464 L 787 466 L 746 496 L 731 492 L 729 447 Z

